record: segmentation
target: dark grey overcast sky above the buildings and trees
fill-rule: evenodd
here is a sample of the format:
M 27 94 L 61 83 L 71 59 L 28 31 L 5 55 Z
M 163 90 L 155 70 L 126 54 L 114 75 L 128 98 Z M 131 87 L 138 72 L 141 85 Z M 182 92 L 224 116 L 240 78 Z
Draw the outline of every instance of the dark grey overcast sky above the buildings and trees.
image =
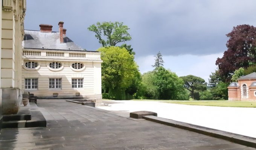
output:
M 164 67 L 178 76 L 196 75 L 208 82 L 217 57 L 226 51 L 234 26 L 256 26 L 256 0 L 27 0 L 24 27 L 64 21 L 67 36 L 90 51 L 101 45 L 88 27 L 97 22 L 127 25 L 140 72 L 151 71 L 160 51 Z

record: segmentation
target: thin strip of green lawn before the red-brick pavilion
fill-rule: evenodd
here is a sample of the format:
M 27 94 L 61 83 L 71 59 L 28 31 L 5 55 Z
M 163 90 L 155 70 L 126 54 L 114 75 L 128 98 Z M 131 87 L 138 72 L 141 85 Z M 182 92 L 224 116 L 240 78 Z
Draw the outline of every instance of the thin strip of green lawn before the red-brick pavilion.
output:
M 256 107 L 256 102 L 249 101 L 168 101 L 167 103 L 219 107 Z

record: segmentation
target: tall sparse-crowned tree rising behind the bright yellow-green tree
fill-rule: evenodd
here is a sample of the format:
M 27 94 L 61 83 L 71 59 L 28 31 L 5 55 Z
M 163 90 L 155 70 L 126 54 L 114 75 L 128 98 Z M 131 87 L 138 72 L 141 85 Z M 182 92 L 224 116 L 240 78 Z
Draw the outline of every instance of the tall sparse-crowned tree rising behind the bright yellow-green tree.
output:
M 93 24 L 88 27 L 88 30 L 95 33 L 95 37 L 104 47 L 116 46 L 117 43 L 131 40 L 131 36 L 128 33 L 129 29 L 128 26 L 119 22 L 98 22 L 96 25 Z

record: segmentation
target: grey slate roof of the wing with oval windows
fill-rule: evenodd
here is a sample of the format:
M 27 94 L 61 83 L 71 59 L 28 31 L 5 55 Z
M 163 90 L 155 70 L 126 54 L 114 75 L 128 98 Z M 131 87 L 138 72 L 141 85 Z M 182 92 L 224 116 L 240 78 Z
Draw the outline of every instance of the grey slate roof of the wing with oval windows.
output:
M 64 42 L 60 43 L 59 32 L 24 30 L 24 33 L 24 48 L 84 51 L 67 36 L 63 38 Z

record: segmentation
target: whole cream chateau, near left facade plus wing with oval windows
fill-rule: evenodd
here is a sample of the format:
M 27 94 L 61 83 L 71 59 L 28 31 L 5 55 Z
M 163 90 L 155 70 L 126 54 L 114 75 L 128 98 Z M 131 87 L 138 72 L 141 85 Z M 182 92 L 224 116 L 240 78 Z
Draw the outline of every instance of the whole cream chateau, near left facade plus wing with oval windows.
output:
M 40 31 L 24 30 L 26 0 L 1 0 L 0 5 L 0 123 L 3 115 L 17 114 L 24 92 L 102 101 L 100 52 L 76 45 L 63 22 L 58 32 L 45 24 Z

